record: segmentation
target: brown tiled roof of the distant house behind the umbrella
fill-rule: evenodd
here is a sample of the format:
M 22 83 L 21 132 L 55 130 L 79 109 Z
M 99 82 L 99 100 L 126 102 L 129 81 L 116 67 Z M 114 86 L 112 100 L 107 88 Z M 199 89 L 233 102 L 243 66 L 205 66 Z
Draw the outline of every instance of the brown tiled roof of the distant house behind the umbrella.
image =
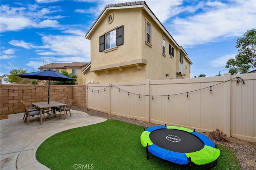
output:
M 72 62 L 72 63 L 49 63 L 39 67 L 42 70 L 44 68 L 81 68 L 86 66 L 88 63 L 85 62 Z

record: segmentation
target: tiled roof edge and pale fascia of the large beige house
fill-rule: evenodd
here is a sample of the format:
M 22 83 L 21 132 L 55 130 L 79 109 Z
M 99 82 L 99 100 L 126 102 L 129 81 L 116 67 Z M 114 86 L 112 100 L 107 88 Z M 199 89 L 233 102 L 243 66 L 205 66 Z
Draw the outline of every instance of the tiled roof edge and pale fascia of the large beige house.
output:
M 98 18 L 96 18 L 95 22 L 92 24 L 92 26 L 89 28 L 88 32 L 85 34 L 85 38 L 90 40 L 91 34 L 94 32 L 95 28 L 100 24 L 106 13 L 108 13 L 108 10 L 112 9 L 123 9 L 123 8 L 143 8 L 150 16 L 151 18 L 156 22 L 156 24 L 162 29 L 162 31 L 172 40 L 172 42 L 178 47 L 181 51 L 183 51 L 184 54 L 188 55 L 186 51 L 183 49 L 182 46 L 178 45 L 178 43 L 172 38 L 171 34 L 164 28 L 162 23 L 158 20 L 156 15 L 150 10 L 148 5 L 145 1 L 136 1 L 136 2 L 125 2 L 125 3 L 119 3 L 119 4 L 108 4 L 105 6 L 105 8 L 102 10 Z M 186 56 L 188 61 L 192 64 L 192 61 Z

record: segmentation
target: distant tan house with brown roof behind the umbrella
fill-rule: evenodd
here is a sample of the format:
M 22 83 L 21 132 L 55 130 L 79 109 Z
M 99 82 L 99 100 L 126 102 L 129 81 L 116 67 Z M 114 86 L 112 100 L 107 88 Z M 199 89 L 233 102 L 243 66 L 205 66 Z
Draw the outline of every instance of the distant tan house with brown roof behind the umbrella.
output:
M 82 85 L 85 84 L 85 75 L 82 74 L 82 70 L 88 65 L 88 63 L 85 62 L 72 62 L 72 63 L 49 63 L 46 65 L 40 66 L 39 70 L 45 70 L 45 69 L 52 69 L 58 73 L 60 73 L 62 70 L 67 71 L 68 73 L 72 73 L 73 75 L 76 75 L 76 82 L 75 85 Z

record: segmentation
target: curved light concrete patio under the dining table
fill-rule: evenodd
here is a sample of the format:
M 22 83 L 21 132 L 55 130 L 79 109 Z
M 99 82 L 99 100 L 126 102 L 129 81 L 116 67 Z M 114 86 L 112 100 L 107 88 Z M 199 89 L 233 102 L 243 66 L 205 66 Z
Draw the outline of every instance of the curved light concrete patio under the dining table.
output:
M 46 119 L 40 125 L 37 117 L 31 117 L 28 126 L 22 120 L 24 113 L 8 115 L 0 121 L 1 170 L 49 170 L 36 160 L 36 150 L 50 136 L 71 128 L 88 126 L 106 121 L 81 111 L 71 110 L 68 114 Z

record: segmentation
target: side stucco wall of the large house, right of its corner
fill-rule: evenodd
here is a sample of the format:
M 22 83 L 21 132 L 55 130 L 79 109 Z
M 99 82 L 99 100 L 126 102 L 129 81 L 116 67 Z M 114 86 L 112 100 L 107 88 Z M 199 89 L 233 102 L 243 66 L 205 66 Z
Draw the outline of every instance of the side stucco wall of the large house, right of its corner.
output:
M 147 59 L 146 79 L 175 79 L 176 78 L 176 58 L 178 50 L 168 36 L 156 25 L 156 23 L 142 10 L 142 57 Z M 146 41 L 146 22 L 151 24 L 151 45 L 147 45 Z M 162 39 L 166 40 L 165 54 L 162 54 Z M 174 57 L 169 55 L 169 44 L 174 47 Z M 169 74 L 169 77 L 166 77 Z

